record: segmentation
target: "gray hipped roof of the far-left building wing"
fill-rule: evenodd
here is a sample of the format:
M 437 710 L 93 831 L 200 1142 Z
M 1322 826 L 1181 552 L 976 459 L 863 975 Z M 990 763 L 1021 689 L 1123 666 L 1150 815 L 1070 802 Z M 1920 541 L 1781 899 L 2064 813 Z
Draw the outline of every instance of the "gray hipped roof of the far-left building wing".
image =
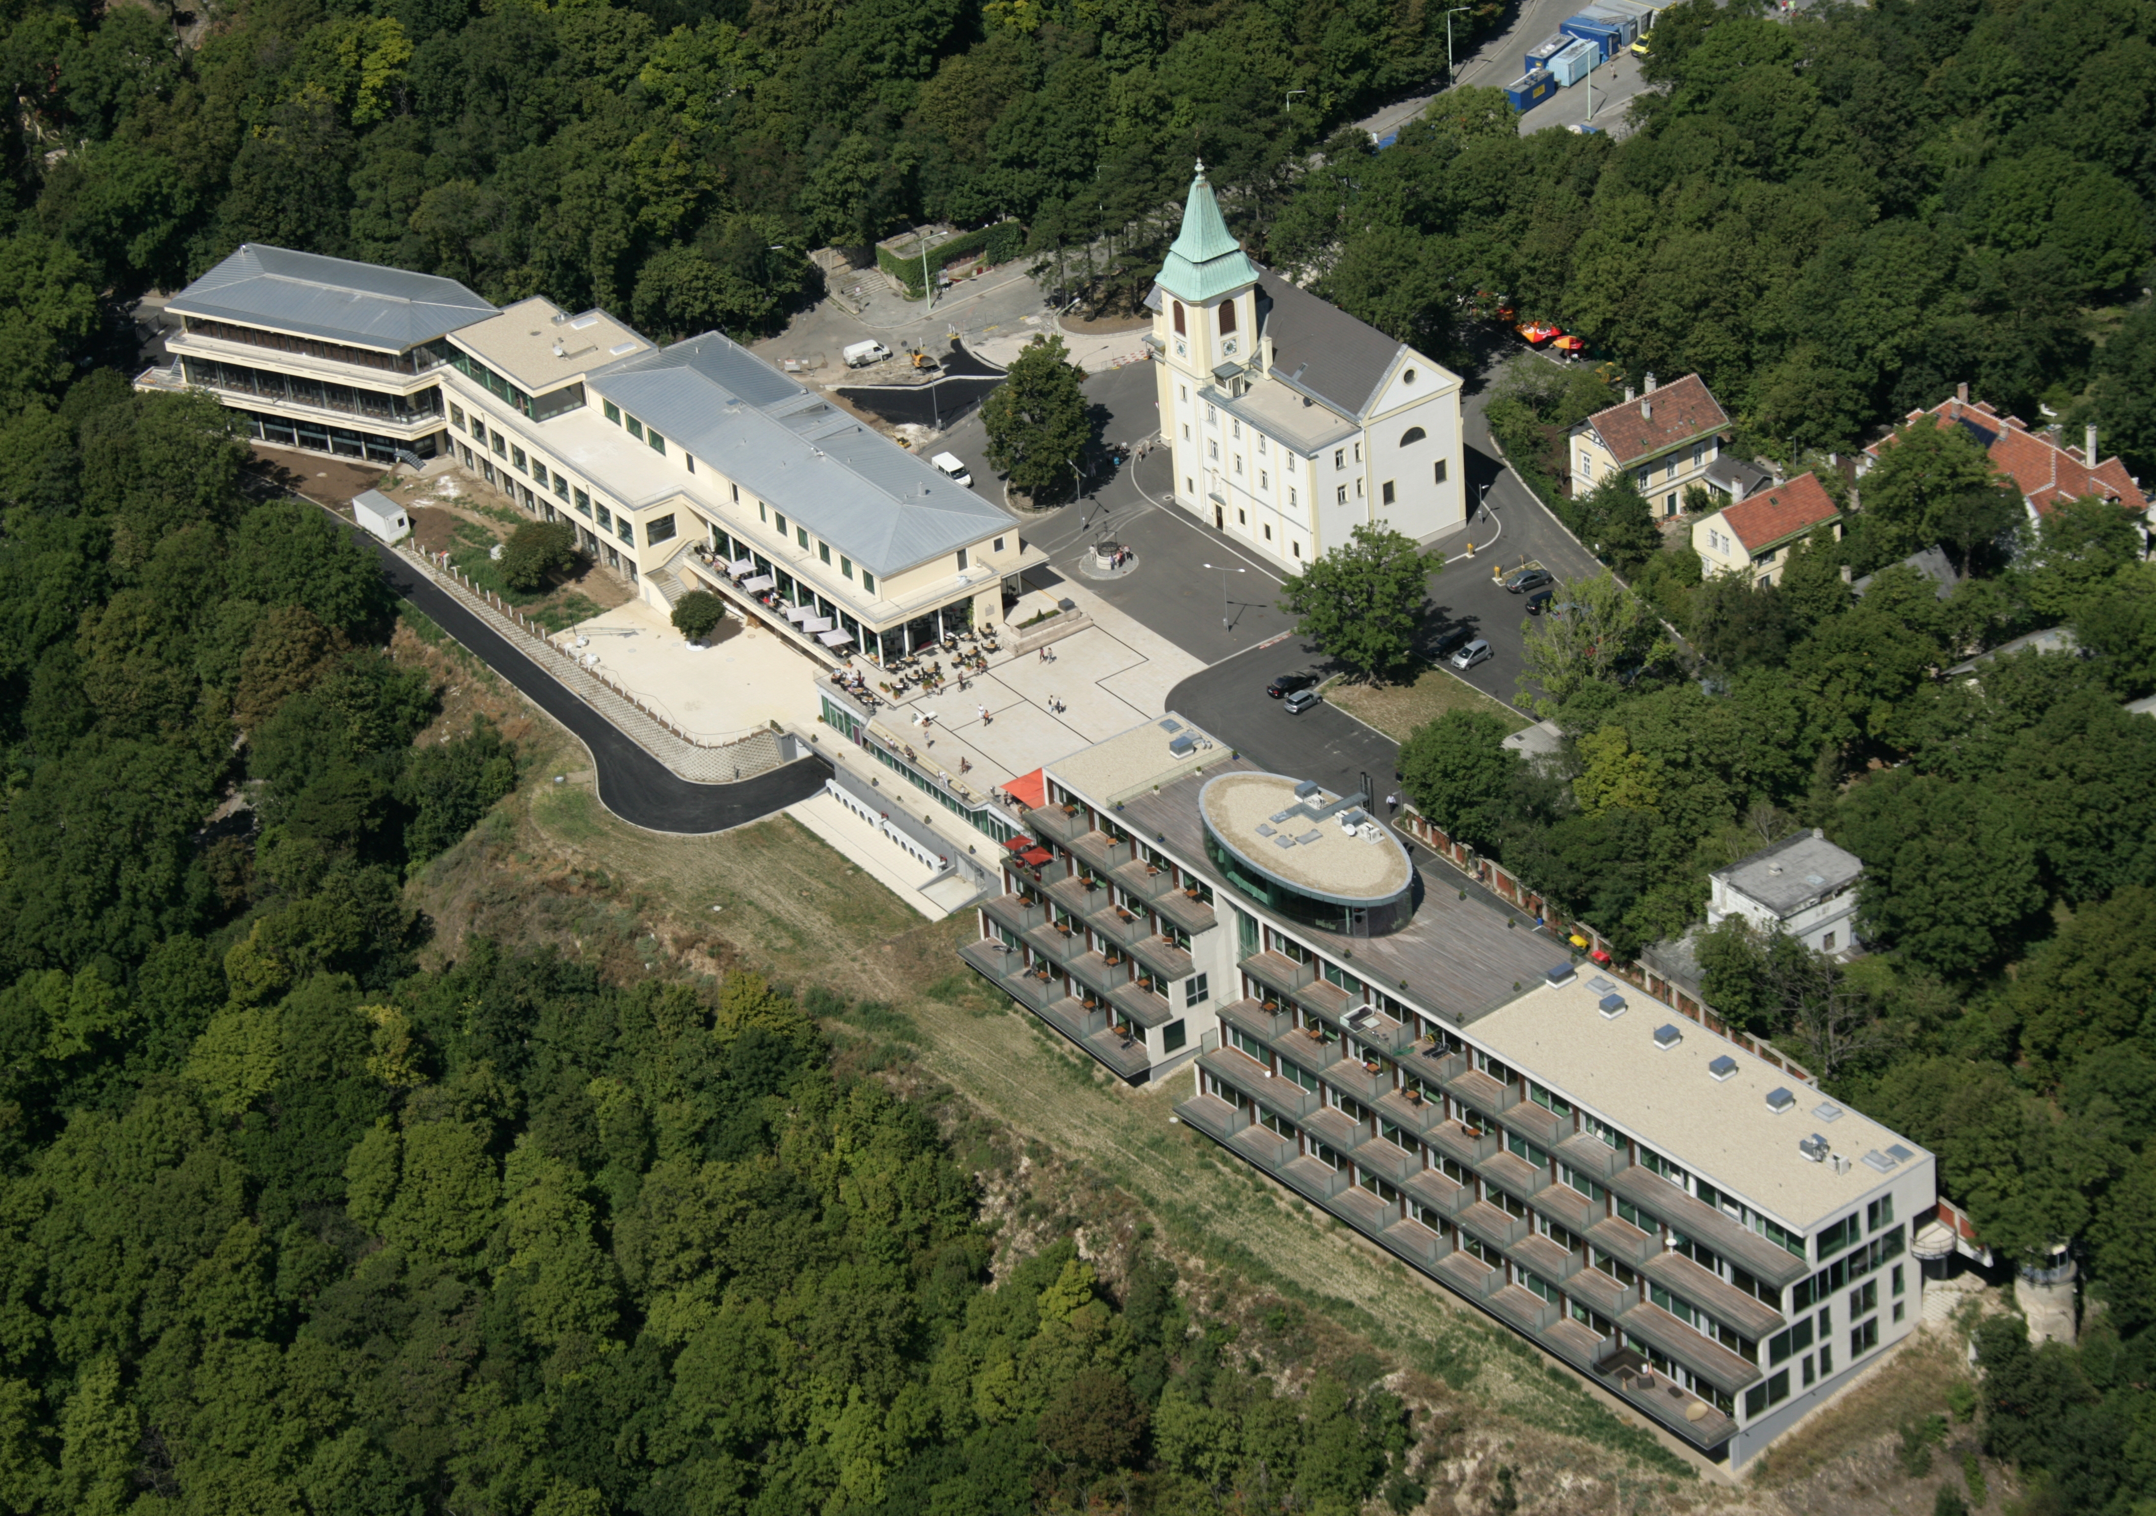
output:
M 431 343 L 494 315 L 492 304 L 453 278 L 254 242 L 241 244 L 166 308 L 386 352 Z

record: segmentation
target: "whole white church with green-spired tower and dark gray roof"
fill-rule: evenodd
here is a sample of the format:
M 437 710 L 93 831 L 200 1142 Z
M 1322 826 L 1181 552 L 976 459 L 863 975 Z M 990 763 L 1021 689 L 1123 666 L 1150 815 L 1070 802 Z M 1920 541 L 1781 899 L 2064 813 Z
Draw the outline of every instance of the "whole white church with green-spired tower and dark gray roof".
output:
M 1147 304 L 1175 502 L 1287 571 L 1466 522 L 1460 375 L 1259 267 L 1205 166 Z

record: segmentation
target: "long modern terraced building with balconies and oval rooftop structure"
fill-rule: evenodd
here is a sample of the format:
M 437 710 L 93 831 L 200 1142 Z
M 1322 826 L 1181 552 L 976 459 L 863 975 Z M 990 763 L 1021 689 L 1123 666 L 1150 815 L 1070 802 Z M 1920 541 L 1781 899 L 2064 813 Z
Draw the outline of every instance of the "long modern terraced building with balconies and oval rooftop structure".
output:
M 1177 716 L 1041 774 L 962 949 L 1177 1119 L 1742 1464 L 1921 1320 L 1932 1154 Z

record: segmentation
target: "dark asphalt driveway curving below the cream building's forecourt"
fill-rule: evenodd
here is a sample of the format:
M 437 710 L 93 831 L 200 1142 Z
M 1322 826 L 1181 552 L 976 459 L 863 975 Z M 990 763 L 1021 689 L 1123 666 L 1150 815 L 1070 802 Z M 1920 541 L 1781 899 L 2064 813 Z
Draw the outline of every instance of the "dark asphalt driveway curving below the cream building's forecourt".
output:
M 533 705 L 576 733 L 591 750 L 593 770 L 599 774 L 599 804 L 623 822 L 653 832 L 722 832 L 806 800 L 830 776 L 824 759 L 804 757 L 735 785 L 699 785 L 681 778 L 630 742 L 614 722 L 565 690 L 526 658 L 524 649 L 466 610 L 455 595 L 373 537 L 360 533 L 360 539 L 375 550 L 392 591 L 464 643 L 487 669 L 517 686 Z

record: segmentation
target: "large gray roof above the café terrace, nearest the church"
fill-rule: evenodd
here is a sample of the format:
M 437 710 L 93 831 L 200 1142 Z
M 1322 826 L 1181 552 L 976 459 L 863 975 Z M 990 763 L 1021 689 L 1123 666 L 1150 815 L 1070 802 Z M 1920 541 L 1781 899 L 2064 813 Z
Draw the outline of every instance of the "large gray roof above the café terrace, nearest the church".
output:
M 720 332 L 623 358 L 586 384 L 873 574 L 1015 526 Z

